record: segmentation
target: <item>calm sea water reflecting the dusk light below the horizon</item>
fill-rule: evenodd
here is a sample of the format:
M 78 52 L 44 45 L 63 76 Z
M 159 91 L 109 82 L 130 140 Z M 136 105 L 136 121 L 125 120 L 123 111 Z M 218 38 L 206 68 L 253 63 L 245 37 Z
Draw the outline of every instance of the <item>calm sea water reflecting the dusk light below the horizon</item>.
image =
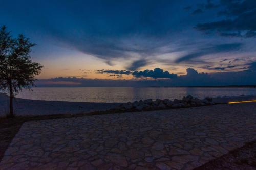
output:
M 140 99 L 181 99 L 192 95 L 206 96 L 256 95 L 256 88 L 33 88 L 17 97 L 24 99 L 71 102 L 129 102 Z

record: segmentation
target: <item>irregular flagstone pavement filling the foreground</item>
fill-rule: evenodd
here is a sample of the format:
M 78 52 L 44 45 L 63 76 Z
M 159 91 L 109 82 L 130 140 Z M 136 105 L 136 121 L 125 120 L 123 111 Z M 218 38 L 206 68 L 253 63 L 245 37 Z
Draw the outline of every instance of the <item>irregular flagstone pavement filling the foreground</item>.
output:
M 0 169 L 193 169 L 256 139 L 256 103 L 26 122 Z

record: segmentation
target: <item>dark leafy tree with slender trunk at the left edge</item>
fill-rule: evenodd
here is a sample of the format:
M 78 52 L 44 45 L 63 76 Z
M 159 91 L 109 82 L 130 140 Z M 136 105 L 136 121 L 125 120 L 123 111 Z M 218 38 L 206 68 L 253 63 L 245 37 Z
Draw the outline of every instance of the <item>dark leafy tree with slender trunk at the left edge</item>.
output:
M 22 89 L 34 86 L 35 75 L 40 74 L 39 63 L 31 61 L 30 52 L 34 43 L 19 34 L 13 38 L 6 29 L 0 28 L 0 89 L 10 93 L 10 117 L 13 117 L 13 97 Z

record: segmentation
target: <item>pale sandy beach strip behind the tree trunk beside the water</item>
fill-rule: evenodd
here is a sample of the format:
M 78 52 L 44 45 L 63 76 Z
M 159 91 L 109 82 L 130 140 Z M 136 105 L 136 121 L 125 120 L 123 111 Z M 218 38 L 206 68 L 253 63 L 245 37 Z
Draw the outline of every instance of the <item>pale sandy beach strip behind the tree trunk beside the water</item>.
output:
M 9 97 L 0 93 L 0 117 L 5 116 L 9 109 Z M 101 111 L 113 108 L 120 103 L 92 103 L 92 102 L 62 102 L 28 99 L 14 99 L 14 114 L 24 115 L 51 115 L 51 114 L 78 114 Z

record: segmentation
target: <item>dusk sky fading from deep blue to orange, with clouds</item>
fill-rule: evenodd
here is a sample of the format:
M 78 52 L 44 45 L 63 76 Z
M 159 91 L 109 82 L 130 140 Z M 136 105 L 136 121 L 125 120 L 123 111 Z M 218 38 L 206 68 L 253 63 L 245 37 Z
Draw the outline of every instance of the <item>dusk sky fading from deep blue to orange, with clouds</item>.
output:
M 255 0 L 0 1 L 41 86 L 256 84 Z

